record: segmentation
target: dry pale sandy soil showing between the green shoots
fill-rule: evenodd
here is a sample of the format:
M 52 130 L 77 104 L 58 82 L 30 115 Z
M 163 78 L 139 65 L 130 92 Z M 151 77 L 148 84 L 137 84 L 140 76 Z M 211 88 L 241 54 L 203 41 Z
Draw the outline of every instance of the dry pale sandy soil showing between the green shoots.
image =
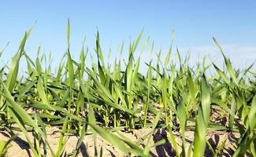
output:
M 139 104 L 140 105 L 140 104 Z M 140 105 L 141 106 L 141 105 Z M 157 105 L 156 108 L 159 106 Z M 141 107 L 142 108 L 142 107 Z M 148 118 L 152 117 L 150 122 L 153 122 L 153 116 L 148 113 Z M 143 115 L 143 113 L 142 113 Z M 228 124 L 228 115 L 226 113 L 221 112 L 219 108 L 215 108 L 214 111 L 210 114 L 210 122 L 214 122 L 221 126 L 226 126 Z M 179 123 L 179 122 L 178 122 Z M 195 126 L 195 122 L 187 122 L 187 126 Z M 50 147 L 54 152 L 58 151 L 58 141 L 60 137 L 60 128 L 56 126 L 46 127 L 47 139 L 50 143 Z M 28 146 L 28 142 L 26 142 L 26 138 L 23 133 L 14 132 L 17 134 L 17 138 L 11 142 L 11 147 L 8 149 L 6 156 L 32 156 L 32 151 Z M 170 141 L 167 140 L 169 138 L 169 133 L 163 129 L 158 129 L 154 133 L 151 133 L 151 129 L 139 129 L 135 130 L 135 133 L 125 133 L 120 132 L 125 137 L 128 137 L 130 140 L 135 141 L 141 148 L 144 148 L 147 144 L 147 141 L 150 139 L 150 145 L 156 144 L 158 141 L 162 139 L 165 140 L 165 144 L 158 145 L 157 147 L 150 148 L 151 156 L 175 156 L 176 152 L 173 149 L 173 146 Z M 176 143 L 180 148 L 181 152 L 181 144 L 182 137 L 179 132 L 173 132 L 176 137 Z M 115 133 L 117 134 L 117 133 Z M 149 134 L 148 138 L 142 141 L 145 135 Z M 33 141 L 32 133 L 29 134 L 31 141 Z M 0 130 L 0 141 L 8 141 L 10 134 L 6 131 Z M 192 144 L 194 140 L 194 131 L 186 130 L 186 148 Z M 77 136 L 69 136 L 69 140 L 65 144 L 65 152 L 68 155 L 72 155 L 72 151 L 76 148 L 76 142 L 78 140 Z M 217 131 L 217 130 L 209 130 L 207 133 L 207 140 L 210 143 L 211 147 L 214 150 L 217 150 L 224 144 L 224 156 L 232 156 L 234 151 L 237 148 L 237 143 L 239 140 L 239 133 L 229 133 L 227 131 Z M 94 135 L 91 133 L 90 127 L 88 127 L 87 134 L 84 137 L 83 143 L 80 148 L 80 152 L 78 156 L 95 156 L 95 149 L 98 151 L 98 155 L 102 152 L 103 157 L 107 156 L 125 156 L 123 152 L 118 150 L 118 148 L 113 147 L 113 145 L 104 141 L 101 137 L 97 136 L 96 141 Z M 42 149 L 43 150 L 43 149 Z M 43 152 L 43 151 L 42 151 Z M 210 148 L 206 146 L 206 156 L 213 156 Z M 50 155 L 50 151 L 48 151 L 47 156 Z M 133 155 L 134 156 L 134 155 Z M 248 155 L 247 156 L 251 156 Z

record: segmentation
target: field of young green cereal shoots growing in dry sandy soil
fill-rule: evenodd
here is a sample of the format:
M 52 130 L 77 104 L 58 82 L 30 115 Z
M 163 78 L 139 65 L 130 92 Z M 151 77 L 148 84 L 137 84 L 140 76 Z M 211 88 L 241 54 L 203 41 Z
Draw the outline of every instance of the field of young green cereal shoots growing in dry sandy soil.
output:
M 39 49 L 32 60 L 24 50 L 32 29 L 11 64 L 0 68 L 0 156 L 22 149 L 32 156 L 256 156 L 254 64 L 232 68 L 214 38 L 224 69 L 206 58 L 191 68 L 189 57 L 172 46 L 165 60 L 160 51 L 157 63 L 140 63 L 134 53 L 149 42 L 138 50 L 142 31 L 125 52 L 128 61 L 114 64 L 104 60 L 97 33 L 91 66 L 84 47 L 80 60 L 72 59 L 69 29 L 68 22 L 68 49 L 56 74 L 51 57 Z M 153 52 L 154 44 L 150 58 Z M 18 78 L 22 57 L 27 74 Z M 139 72 L 142 64 L 146 75 Z M 207 74 L 210 68 L 216 75 Z

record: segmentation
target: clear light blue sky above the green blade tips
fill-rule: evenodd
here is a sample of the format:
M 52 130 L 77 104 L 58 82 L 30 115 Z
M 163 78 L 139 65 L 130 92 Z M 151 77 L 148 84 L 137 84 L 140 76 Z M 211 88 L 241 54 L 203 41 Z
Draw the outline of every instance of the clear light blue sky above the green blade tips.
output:
M 0 49 L 6 46 L 0 62 L 12 57 L 24 31 L 37 24 L 28 39 L 26 50 L 35 57 L 37 46 L 60 60 L 66 49 L 66 24 L 71 24 L 72 56 L 78 57 L 83 37 L 91 53 L 95 32 L 102 38 L 103 49 L 111 46 L 116 53 L 123 40 L 135 39 L 139 31 L 154 39 L 157 49 L 168 49 L 175 30 L 175 46 L 191 55 L 209 54 L 222 60 L 213 44 L 217 38 L 237 68 L 256 59 L 256 1 L 2 1 L 0 2 Z M 107 52 L 106 52 L 107 53 Z M 106 54 L 107 56 L 107 54 Z M 196 57 L 194 57 L 195 60 Z M 193 59 L 193 57 L 192 57 Z

